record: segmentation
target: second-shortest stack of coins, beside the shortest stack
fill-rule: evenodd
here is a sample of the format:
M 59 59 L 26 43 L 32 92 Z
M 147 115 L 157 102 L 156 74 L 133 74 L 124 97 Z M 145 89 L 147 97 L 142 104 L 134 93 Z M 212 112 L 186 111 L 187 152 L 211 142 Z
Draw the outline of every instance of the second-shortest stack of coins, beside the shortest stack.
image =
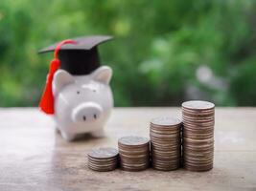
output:
M 150 140 L 140 137 L 118 139 L 120 165 L 126 171 L 141 171 L 150 163 Z

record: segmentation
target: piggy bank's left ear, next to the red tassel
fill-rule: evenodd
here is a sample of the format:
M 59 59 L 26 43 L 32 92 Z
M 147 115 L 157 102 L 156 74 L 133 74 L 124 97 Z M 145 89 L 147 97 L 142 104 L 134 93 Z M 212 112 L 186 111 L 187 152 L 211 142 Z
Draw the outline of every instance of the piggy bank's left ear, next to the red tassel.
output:
M 64 70 L 58 70 L 54 75 L 53 92 L 56 95 L 65 85 L 74 83 L 74 77 Z

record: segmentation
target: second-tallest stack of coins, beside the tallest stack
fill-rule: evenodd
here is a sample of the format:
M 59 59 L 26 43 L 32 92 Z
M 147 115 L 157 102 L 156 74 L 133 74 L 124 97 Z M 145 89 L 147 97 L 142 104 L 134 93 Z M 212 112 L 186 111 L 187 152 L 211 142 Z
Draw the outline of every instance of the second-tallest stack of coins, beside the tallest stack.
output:
M 157 170 L 175 170 L 180 165 L 181 120 L 158 117 L 151 120 L 151 163 Z

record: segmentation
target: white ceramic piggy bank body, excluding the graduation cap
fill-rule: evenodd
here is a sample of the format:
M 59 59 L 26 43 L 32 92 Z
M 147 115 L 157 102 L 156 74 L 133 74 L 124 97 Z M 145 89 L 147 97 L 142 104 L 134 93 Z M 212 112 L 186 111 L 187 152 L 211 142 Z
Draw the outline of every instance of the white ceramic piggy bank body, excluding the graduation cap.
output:
M 113 107 L 109 87 L 111 68 L 102 66 L 91 74 L 72 75 L 58 70 L 54 75 L 55 121 L 63 138 L 79 134 L 104 135 L 104 125 Z

